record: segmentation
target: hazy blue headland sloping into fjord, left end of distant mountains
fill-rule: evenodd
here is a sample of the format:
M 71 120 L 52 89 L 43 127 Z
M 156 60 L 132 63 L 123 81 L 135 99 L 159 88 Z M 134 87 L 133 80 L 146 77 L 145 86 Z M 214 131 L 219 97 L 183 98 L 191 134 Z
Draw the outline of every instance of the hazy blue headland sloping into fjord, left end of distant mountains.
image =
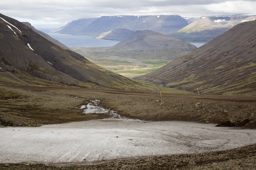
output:
M 76 21 L 72 21 L 70 23 L 67 23 L 66 25 L 54 29 L 51 32 L 59 32 L 63 34 L 72 34 L 75 35 L 77 32 L 79 32 L 84 27 L 88 26 L 93 21 L 97 20 L 98 18 L 86 18 L 86 19 L 79 19 Z

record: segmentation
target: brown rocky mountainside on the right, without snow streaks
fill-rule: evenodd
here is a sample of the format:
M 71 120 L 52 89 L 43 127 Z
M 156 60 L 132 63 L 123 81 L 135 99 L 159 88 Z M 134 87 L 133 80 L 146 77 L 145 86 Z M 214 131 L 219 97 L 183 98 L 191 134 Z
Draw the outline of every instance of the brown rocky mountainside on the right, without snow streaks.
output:
M 202 94 L 256 90 L 256 21 L 240 23 L 162 68 L 136 77 Z

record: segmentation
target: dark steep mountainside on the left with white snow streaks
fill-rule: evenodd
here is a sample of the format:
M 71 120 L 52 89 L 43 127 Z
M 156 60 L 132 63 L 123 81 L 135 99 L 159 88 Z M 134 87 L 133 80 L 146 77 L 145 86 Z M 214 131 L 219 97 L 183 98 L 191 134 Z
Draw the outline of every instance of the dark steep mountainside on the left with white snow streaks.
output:
M 90 82 L 124 89 L 137 83 L 48 41 L 23 23 L 0 14 L 0 68 L 63 84 Z

